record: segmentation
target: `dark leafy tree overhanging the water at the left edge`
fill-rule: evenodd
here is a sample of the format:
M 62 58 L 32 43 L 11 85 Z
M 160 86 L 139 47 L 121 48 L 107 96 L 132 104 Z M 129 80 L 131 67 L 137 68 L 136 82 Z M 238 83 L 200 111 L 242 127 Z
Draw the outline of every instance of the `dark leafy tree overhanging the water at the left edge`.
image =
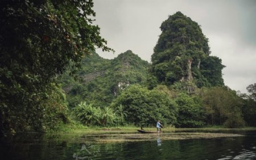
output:
M 92 24 L 92 0 L 1 1 L 0 6 L 1 131 L 38 130 L 39 103 L 48 98 L 56 74 L 69 64 L 79 67 L 95 46 L 111 49 Z

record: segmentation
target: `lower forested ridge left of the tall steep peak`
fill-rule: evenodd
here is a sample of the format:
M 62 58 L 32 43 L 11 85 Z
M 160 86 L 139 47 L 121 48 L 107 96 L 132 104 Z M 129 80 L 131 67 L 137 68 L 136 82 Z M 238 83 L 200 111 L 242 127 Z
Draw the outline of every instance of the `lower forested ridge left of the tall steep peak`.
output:
M 146 81 L 149 63 L 127 50 L 114 59 L 101 58 L 93 53 L 82 59 L 79 80 L 63 75 L 63 89 L 69 107 L 81 101 L 95 106 L 108 106 L 122 89 Z

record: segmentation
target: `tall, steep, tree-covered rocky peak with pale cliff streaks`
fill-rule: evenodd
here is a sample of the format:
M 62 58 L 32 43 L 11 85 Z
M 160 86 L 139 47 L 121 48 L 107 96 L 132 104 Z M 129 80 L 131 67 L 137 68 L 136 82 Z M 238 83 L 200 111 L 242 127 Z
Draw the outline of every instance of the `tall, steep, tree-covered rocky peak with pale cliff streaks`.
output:
M 200 25 L 181 12 L 169 16 L 152 54 L 151 73 L 160 83 L 193 81 L 197 87 L 224 85 L 221 59 L 210 56 Z M 213 76 L 211 76 L 213 75 Z

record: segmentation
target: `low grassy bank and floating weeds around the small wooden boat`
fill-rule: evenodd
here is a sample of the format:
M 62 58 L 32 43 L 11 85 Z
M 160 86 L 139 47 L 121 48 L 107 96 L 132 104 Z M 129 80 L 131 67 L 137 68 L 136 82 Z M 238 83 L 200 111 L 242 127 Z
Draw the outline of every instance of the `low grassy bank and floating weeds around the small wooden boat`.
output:
M 113 143 L 129 141 L 155 141 L 161 140 L 185 140 L 185 139 L 212 139 L 223 137 L 233 139 L 242 136 L 243 131 L 256 131 L 256 127 L 246 128 L 175 128 L 166 127 L 164 133 L 141 134 L 137 132 L 140 129 L 135 126 L 117 126 L 117 127 L 86 127 L 72 122 L 59 126 L 55 131 L 44 135 L 46 140 L 68 141 L 68 142 L 93 142 L 93 143 Z M 146 131 L 156 131 L 155 127 L 145 127 Z

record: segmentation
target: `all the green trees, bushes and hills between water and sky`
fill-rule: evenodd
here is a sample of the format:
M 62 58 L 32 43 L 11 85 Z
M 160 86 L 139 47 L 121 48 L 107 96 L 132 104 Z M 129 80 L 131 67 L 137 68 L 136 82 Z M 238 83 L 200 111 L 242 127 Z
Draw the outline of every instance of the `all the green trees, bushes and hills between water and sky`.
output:
M 200 26 L 177 12 L 164 21 L 152 64 L 132 51 L 112 60 L 93 25 L 93 2 L 0 2 L 0 129 L 45 132 L 85 126 L 256 126 L 248 95 L 224 85 Z

